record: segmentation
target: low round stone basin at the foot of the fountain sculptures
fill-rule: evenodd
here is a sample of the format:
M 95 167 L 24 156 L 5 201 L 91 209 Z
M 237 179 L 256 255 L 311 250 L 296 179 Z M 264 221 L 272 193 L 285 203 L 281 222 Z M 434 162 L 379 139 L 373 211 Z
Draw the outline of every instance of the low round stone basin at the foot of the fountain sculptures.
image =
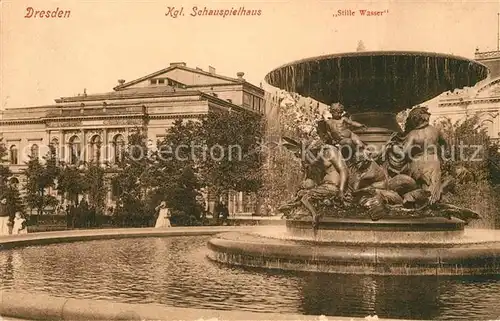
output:
M 328 229 L 320 227 L 316 235 L 293 221 L 281 233 L 261 229 L 221 234 L 208 242 L 208 257 L 231 265 L 336 274 L 500 273 L 499 231 L 463 230 L 457 228 L 460 220 L 427 231 L 411 231 L 407 228 L 411 224 L 403 222 L 397 222 L 404 227 L 398 230 L 391 222 L 368 229 L 366 222 L 339 221 L 343 220 L 331 222 Z M 439 226 L 437 223 L 442 222 L 429 225 Z M 356 228 L 345 229 L 349 225 Z M 359 228 L 363 225 L 365 228 Z M 384 230 L 391 225 L 392 230 Z

